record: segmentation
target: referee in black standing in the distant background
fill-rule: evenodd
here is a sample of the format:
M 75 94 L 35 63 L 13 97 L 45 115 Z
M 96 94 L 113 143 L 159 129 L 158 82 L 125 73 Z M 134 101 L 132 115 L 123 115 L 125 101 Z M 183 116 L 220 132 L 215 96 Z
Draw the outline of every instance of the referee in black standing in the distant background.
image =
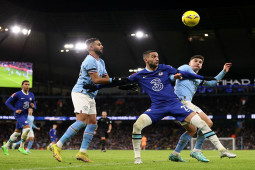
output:
M 105 143 L 108 138 L 108 134 L 112 130 L 112 121 L 107 117 L 107 112 L 102 111 L 102 117 L 97 121 L 97 128 L 95 133 L 97 132 L 100 136 L 100 144 L 102 145 L 101 151 L 106 152 Z

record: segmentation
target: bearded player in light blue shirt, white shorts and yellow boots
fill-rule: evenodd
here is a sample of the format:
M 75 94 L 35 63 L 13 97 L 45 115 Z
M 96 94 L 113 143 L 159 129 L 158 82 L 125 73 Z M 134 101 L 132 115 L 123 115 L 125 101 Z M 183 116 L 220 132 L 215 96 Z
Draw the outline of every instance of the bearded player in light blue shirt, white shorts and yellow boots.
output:
M 103 54 L 103 45 L 99 39 L 88 39 L 86 45 L 89 54 L 81 64 L 80 75 L 71 94 L 76 121 L 67 129 L 59 141 L 51 146 L 53 157 L 59 162 L 62 161 L 61 148 L 63 144 L 86 125 L 81 148 L 76 155 L 76 159 L 84 162 L 92 162 L 87 155 L 87 148 L 97 127 L 96 102 L 94 99 L 97 95 L 97 90 L 88 92 L 83 86 L 86 84 L 105 84 L 119 81 L 118 79 L 109 78 L 107 74 L 104 61 L 100 58 Z

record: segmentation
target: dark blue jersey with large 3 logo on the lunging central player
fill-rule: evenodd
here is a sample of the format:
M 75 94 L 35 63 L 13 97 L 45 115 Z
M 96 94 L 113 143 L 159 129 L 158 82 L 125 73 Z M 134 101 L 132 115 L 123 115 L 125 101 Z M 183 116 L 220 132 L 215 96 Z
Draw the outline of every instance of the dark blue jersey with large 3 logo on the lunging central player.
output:
M 141 85 L 143 91 L 150 96 L 153 105 L 176 101 L 178 97 L 174 93 L 169 79 L 170 75 L 176 73 L 177 70 L 172 66 L 159 64 L 156 71 L 143 69 L 128 78 L 130 81 L 136 81 Z

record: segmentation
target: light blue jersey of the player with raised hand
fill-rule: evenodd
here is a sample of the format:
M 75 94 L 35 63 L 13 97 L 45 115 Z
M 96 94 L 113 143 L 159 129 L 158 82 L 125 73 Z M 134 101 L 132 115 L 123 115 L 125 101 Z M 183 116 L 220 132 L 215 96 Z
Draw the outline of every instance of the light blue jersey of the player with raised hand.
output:
M 192 68 L 185 64 L 178 68 L 181 71 L 187 71 L 193 74 L 196 74 Z M 223 70 L 215 77 L 217 80 L 221 80 L 225 76 L 226 72 Z M 171 80 L 174 80 L 173 75 L 170 77 Z M 174 92 L 181 100 L 192 101 L 193 96 L 197 91 L 197 87 L 202 83 L 203 80 L 200 79 L 177 79 L 175 82 Z M 205 81 L 202 84 L 203 86 L 215 86 L 217 85 L 216 80 Z

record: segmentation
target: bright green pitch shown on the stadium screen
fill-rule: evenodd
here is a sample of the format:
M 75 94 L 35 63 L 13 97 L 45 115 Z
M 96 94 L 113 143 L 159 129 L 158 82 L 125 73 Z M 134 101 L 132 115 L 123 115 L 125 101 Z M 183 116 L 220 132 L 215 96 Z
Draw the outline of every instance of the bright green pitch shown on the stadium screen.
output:
M 16 69 L 13 70 L 14 74 L 9 75 L 8 71 L 4 71 L 4 67 L 0 67 L 0 87 L 21 87 L 23 80 L 28 80 L 30 82 L 30 87 L 32 88 L 32 75 L 29 75 L 28 78 L 22 76 L 24 71 L 19 71 L 22 75 L 18 76 L 15 74 Z

